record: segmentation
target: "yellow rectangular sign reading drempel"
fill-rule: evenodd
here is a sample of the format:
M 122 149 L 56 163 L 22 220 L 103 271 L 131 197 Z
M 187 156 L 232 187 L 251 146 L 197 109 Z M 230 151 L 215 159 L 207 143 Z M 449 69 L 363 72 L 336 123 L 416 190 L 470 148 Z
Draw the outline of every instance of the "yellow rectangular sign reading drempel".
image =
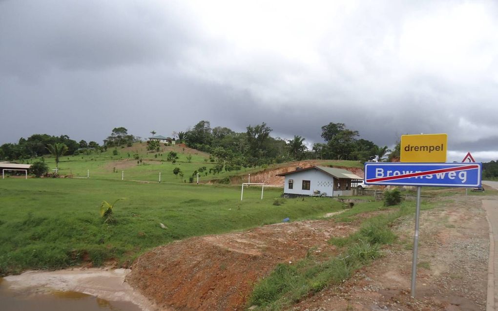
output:
M 401 135 L 401 162 L 446 162 L 447 134 Z

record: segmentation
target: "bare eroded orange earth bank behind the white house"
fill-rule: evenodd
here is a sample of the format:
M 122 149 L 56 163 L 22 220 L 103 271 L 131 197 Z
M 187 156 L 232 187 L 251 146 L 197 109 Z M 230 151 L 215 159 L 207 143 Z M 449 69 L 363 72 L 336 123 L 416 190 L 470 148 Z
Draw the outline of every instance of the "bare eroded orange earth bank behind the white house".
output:
M 267 186 L 271 187 L 282 187 L 285 177 L 282 176 L 276 176 L 277 174 L 282 174 L 282 173 L 287 173 L 294 171 L 296 167 L 310 167 L 313 165 L 330 165 L 333 163 L 333 160 L 305 160 L 305 161 L 295 161 L 295 162 L 289 162 L 282 164 L 281 166 L 278 166 L 277 168 L 269 168 L 265 169 L 261 172 L 257 173 L 251 173 L 250 174 L 250 181 L 252 183 L 264 183 Z M 357 167 L 343 167 L 343 166 L 334 166 L 337 168 L 342 168 L 347 171 L 350 171 L 353 174 L 356 174 L 360 177 L 364 175 L 363 169 L 357 168 Z M 244 176 L 243 178 L 246 178 L 247 176 Z M 240 184 L 242 178 L 235 178 L 231 180 L 232 184 Z M 246 181 L 245 181 L 246 182 Z

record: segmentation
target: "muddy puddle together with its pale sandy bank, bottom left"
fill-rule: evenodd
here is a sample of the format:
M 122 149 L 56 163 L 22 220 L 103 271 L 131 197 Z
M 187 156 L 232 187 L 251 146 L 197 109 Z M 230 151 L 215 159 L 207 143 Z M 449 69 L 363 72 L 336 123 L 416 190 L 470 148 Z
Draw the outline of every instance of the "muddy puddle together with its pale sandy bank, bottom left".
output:
M 0 278 L 1 311 L 151 311 L 125 281 L 127 269 L 26 271 Z

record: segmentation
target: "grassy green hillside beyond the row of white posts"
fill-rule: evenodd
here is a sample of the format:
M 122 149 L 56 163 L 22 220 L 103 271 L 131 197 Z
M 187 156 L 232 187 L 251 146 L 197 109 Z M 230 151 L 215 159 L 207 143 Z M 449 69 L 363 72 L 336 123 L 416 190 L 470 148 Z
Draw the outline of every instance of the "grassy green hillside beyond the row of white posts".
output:
M 132 147 L 117 148 L 117 155 L 113 154 L 114 148 L 109 148 L 106 152 L 98 151 L 82 152 L 78 155 L 62 156 L 59 162 L 59 175 L 86 178 L 90 174 L 92 179 L 121 180 L 124 174 L 124 180 L 139 180 L 156 182 L 159 180 L 171 183 L 189 183 L 189 177 L 193 177 L 193 182 L 197 182 L 199 168 L 206 167 L 206 171 L 199 173 L 199 182 L 206 183 L 212 180 L 228 183 L 231 177 L 239 177 L 236 180 L 247 180 L 248 174 L 253 174 L 265 169 L 279 168 L 288 166 L 288 163 L 263 165 L 259 167 L 244 168 L 235 171 L 223 170 L 219 174 L 209 172 L 214 168 L 216 163 L 211 162 L 209 154 L 190 148 L 179 146 L 164 146 L 161 144 L 159 152 L 149 152 L 145 143 L 135 143 Z M 178 159 L 176 163 L 168 161 L 168 153 L 174 151 Z M 188 157 L 191 157 L 190 159 Z M 135 159 L 137 157 L 138 159 Z M 33 163 L 38 159 L 28 160 Z M 55 169 L 55 159 L 52 156 L 45 156 L 45 162 L 49 166 L 50 172 Z M 142 162 L 140 163 L 140 160 Z M 342 167 L 363 167 L 358 161 L 335 161 L 324 160 L 321 165 L 334 165 Z M 175 176 L 173 170 L 179 168 L 184 176 Z M 124 172 L 123 172 L 124 171 Z

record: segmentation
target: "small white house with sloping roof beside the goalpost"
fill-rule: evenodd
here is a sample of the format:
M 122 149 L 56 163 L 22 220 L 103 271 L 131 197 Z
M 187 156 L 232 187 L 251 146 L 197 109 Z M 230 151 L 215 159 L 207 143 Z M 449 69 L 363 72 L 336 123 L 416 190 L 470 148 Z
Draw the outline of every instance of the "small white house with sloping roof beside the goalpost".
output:
M 290 197 L 351 196 L 351 181 L 363 179 L 347 170 L 326 166 L 311 166 L 277 176 L 285 177 L 283 193 Z

